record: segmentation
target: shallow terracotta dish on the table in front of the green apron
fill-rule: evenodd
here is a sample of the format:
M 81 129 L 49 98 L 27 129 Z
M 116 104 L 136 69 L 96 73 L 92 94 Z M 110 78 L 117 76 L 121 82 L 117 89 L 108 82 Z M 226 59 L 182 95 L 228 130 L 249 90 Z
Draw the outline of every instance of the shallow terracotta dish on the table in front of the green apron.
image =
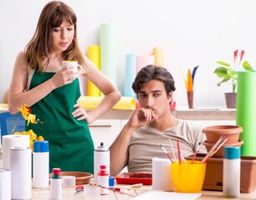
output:
M 52 173 L 49 174 L 51 176 Z M 73 176 L 75 177 L 76 185 L 84 185 L 90 183 L 90 178 L 93 178 L 94 175 L 91 173 L 82 173 L 82 172 L 61 172 L 60 176 Z

